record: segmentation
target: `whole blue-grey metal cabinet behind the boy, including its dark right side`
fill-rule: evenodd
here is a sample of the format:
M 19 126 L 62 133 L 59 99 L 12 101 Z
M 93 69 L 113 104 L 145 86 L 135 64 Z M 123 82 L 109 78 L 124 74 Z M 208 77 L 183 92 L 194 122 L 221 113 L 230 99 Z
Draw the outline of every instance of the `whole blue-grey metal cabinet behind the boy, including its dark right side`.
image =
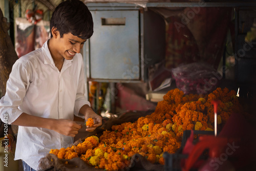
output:
M 164 19 L 137 7 L 90 8 L 94 34 L 83 49 L 88 80 L 141 82 L 164 59 Z

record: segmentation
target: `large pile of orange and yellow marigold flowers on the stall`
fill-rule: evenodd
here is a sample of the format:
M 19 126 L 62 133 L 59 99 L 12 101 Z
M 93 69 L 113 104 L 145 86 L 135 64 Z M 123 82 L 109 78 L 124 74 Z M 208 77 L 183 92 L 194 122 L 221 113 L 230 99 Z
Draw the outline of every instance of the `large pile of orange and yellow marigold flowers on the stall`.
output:
M 136 122 L 113 125 L 100 138 L 88 137 L 77 146 L 51 149 L 60 159 L 81 158 L 84 162 L 106 170 L 129 166 L 134 154 L 151 163 L 164 164 L 163 153 L 175 153 L 181 146 L 184 130 L 214 130 L 212 100 L 220 100 L 218 126 L 226 123 L 233 112 L 243 113 L 236 92 L 217 88 L 208 95 L 184 95 L 179 89 L 170 90 L 158 102 L 151 115 Z

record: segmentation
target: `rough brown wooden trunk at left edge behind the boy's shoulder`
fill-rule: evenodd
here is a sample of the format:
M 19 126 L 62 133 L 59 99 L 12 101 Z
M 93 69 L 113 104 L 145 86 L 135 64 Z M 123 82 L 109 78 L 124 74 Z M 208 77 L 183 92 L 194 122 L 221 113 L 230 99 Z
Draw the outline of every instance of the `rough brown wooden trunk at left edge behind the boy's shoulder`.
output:
M 12 70 L 14 62 L 18 59 L 12 44 L 11 37 L 8 34 L 10 24 L 4 17 L 0 8 L 0 89 L 1 97 L 6 93 L 6 82 Z

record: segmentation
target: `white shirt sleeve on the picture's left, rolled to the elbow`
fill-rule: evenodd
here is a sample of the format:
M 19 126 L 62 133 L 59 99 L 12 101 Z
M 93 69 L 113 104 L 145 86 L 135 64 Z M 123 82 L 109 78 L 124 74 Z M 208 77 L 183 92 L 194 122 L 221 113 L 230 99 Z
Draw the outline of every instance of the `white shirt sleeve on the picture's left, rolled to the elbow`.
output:
M 23 112 L 18 109 L 29 87 L 30 73 L 24 63 L 17 60 L 9 75 L 6 85 L 6 94 L 0 100 L 0 118 L 3 122 L 11 124 Z M 5 117 L 8 114 L 8 117 Z

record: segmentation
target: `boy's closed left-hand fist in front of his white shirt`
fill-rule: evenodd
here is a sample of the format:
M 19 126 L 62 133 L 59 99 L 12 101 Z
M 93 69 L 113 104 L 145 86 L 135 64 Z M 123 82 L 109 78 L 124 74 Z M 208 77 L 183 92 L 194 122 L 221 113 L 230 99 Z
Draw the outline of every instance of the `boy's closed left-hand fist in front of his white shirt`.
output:
M 71 137 L 75 137 L 78 134 L 78 130 L 82 128 L 80 124 L 69 119 L 56 119 L 52 126 L 53 131 Z

